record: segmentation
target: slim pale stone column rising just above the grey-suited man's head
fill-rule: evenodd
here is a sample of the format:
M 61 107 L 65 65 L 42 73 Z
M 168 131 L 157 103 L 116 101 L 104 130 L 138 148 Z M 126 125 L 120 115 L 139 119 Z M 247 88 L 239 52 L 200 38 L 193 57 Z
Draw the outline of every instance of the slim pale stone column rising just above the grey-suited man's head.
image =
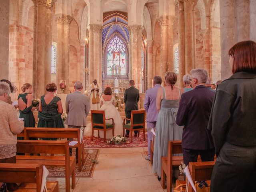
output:
M 85 68 L 85 41 L 80 40 L 80 59 L 79 59 L 79 67 L 77 70 L 77 79 L 83 83 L 84 90 L 86 85 L 84 85 L 84 68 Z

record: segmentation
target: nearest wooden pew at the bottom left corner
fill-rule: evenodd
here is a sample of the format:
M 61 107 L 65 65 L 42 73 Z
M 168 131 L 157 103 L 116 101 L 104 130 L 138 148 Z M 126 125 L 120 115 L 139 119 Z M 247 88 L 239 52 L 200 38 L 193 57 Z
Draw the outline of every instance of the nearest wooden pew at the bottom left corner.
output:
M 16 192 L 40 192 L 43 166 L 41 164 L 0 163 L 0 182 L 24 183 Z M 48 192 L 58 192 L 58 182 L 47 182 Z

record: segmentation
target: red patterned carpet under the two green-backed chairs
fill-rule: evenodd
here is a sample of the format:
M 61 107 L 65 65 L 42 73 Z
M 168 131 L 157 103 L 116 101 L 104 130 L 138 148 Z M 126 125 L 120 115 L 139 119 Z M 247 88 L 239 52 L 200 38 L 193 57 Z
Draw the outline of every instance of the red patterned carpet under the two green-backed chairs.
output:
M 120 145 L 108 144 L 103 142 L 103 138 L 94 137 L 91 141 L 91 137 L 84 136 L 84 148 L 132 148 L 132 147 L 148 147 L 147 132 L 145 133 L 146 140 L 143 139 L 143 134 L 140 133 L 140 137 L 132 137 L 132 143 L 130 137 L 126 138 L 126 142 Z

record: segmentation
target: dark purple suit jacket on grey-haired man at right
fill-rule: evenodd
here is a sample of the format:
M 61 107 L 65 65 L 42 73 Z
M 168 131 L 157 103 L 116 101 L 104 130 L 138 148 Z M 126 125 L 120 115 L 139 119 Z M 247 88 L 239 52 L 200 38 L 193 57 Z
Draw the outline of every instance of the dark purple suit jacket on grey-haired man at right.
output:
M 207 129 L 214 95 L 214 92 L 203 85 L 182 94 L 176 117 L 176 124 L 184 125 L 182 148 L 214 148 L 211 132 Z

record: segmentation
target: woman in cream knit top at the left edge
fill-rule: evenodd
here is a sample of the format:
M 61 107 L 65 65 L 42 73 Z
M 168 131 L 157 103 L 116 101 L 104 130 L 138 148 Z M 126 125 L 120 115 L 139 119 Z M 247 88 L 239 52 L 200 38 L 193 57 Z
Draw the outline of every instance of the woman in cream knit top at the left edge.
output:
M 0 163 L 16 163 L 17 135 L 24 129 L 24 122 L 19 121 L 15 108 L 8 104 L 10 87 L 0 82 Z M 7 189 L 16 190 L 18 186 L 8 183 Z

